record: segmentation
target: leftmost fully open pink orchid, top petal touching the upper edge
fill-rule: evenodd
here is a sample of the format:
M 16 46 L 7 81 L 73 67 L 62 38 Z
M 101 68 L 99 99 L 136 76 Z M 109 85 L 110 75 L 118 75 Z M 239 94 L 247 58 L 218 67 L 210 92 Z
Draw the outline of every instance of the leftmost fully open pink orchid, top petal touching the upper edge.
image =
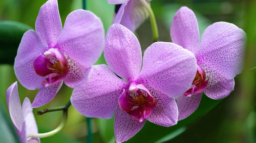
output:
M 32 107 L 51 101 L 63 81 L 72 88 L 86 81 L 104 45 L 102 22 L 90 11 L 71 12 L 62 30 L 57 0 L 41 6 L 35 29 L 24 34 L 14 62 L 19 82 L 39 88 Z

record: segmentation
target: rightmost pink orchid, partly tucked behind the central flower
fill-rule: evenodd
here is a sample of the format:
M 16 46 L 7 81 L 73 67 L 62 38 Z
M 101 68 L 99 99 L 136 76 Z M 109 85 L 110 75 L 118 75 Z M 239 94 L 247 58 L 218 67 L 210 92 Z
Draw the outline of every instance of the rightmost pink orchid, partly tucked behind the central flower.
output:
M 203 92 L 211 99 L 221 99 L 233 90 L 233 78 L 242 70 L 246 34 L 234 24 L 216 22 L 206 28 L 200 43 L 195 14 L 182 7 L 173 18 L 170 36 L 197 58 L 196 77 L 190 89 L 177 98 L 182 120 L 197 109 Z

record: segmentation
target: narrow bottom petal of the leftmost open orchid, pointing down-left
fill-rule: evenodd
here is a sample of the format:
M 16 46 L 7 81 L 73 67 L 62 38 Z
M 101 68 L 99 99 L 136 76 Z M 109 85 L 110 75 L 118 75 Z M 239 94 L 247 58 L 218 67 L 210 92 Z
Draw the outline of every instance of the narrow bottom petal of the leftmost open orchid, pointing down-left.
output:
M 40 107 L 50 102 L 61 88 L 62 83 L 63 81 L 40 88 L 32 103 L 32 107 Z

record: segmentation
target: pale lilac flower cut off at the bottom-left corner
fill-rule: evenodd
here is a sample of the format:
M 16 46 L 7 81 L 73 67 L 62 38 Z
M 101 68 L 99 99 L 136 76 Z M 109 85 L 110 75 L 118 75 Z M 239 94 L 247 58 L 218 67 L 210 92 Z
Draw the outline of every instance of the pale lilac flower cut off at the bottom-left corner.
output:
M 12 124 L 18 135 L 20 142 L 22 143 L 38 143 L 39 138 L 30 137 L 27 138 L 27 134 L 38 133 L 35 118 L 32 112 L 32 106 L 30 100 L 26 97 L 22 106 L 18 96 L 17 81 L 6 91 L 6 102 L 11 116 Z

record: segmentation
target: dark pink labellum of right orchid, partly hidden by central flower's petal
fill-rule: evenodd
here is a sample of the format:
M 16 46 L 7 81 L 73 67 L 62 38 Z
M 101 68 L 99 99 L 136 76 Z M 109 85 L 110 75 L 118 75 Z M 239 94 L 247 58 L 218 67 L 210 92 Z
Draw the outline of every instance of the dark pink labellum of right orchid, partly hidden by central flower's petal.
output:
M 196 77 L 192 82 L 191 88 L 188 91 L 186 91 L 184 95 L 191 96 L 192 94 L 197 94 L 202 92 L 205 89 L 208 81 L 209 81 L 209 78 L 206 80 L 206 74 L 204 70 L 199 65 L 197 65 Z

